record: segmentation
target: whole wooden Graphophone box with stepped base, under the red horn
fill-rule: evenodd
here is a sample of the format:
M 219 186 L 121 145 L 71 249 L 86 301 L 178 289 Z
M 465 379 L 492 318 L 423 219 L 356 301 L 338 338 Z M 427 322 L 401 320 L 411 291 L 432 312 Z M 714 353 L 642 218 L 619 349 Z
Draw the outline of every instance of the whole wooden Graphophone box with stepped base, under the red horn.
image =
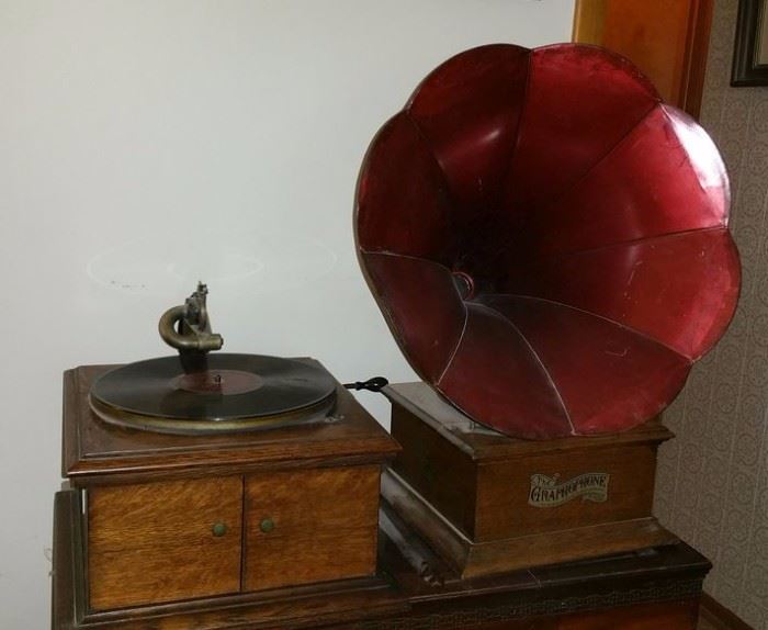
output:
M 464 577 L 677 538 L 652 514 L 658 420 L 623 434 L 520 440 L 476 425 L 425 383 L 391 385 L 403 450 L 384 497 Z

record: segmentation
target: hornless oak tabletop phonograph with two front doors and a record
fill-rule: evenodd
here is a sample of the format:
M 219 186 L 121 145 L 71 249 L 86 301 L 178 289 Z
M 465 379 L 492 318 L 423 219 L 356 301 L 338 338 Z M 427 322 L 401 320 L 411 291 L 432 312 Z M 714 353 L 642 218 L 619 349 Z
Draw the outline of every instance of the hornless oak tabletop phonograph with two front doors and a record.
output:
M 391 609 L 375 556 L 397 445 L 317 361 L 215 352 L 206 294 L 160 318 L 178 356 L 65 373 L 63 627 L 263 623 L 286 587 L 296 614 Z

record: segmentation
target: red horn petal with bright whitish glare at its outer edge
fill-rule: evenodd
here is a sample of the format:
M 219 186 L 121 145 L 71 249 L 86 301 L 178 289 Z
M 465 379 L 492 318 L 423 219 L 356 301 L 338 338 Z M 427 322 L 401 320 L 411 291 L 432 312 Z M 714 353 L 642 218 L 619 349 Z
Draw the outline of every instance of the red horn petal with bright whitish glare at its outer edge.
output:
M 655 108 L 553 203 L 530 214 L 537 256 L 727 225 L 729 180 L 720 154 L 689 116 Z

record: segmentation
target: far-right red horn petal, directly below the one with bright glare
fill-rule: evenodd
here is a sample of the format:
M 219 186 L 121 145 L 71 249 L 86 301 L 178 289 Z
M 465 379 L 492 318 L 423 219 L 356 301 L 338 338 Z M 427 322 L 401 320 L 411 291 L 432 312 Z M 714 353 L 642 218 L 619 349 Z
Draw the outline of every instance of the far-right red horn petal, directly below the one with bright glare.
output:
M 540 260 L 505 292 L 611 319 L 694 361 L 733 317 L 739 269 L 736 246 L 719 227 Z

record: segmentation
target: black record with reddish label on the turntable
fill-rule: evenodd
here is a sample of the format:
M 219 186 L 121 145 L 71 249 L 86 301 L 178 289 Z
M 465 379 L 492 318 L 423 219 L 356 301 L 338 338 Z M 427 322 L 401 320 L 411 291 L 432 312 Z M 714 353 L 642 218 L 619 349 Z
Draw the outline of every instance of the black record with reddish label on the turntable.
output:
M 336 381 L 319 364 L 261 355 L 207 356 L 185 374 L 179 357 L 138 361 L 91 387 L 91 408 L 108 423 L 172 434 L 252 430 L 324 418 Z

